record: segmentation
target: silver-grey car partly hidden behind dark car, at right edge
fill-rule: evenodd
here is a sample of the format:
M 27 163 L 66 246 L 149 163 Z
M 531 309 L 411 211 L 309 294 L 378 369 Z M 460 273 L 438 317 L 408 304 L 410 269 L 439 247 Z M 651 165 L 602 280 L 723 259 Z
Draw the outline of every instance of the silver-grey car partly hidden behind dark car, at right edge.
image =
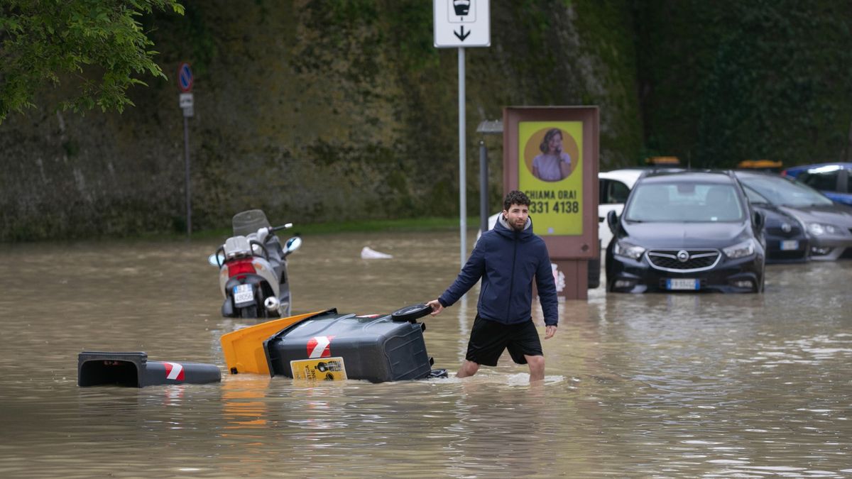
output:
M 786 177 L 737 171 L 737 178 L 754 205 L 778 206 L 802 222 L 810 240 L 810 259 L 852 259 L 852 207 L 834 203 L 825 195 Z

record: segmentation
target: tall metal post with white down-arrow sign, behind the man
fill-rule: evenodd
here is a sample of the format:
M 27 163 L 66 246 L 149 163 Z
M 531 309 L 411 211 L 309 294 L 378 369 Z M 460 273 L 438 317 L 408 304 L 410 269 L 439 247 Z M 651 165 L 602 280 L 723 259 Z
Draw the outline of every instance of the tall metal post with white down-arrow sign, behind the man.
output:
M 467 259 L 467 199 L 464 190 L 464 49 L 491 46 L 489 0 L 433 0 L 435 48 L 458 49 L 458 218 L 461 236 L 461 265 Z

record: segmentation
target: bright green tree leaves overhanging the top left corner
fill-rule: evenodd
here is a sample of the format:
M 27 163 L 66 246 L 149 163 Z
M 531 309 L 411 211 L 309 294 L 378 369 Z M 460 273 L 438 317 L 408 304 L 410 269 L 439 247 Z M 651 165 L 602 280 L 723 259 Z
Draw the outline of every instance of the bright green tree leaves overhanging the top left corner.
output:
M 4 0 L 0 4 L 0 122 L 35 107 L 59 84 L 78 85 L 57 107 L 124 111 L 139 77 L 163 77 L 139 21 L 153 11 L 183 14 L 177 0 Z

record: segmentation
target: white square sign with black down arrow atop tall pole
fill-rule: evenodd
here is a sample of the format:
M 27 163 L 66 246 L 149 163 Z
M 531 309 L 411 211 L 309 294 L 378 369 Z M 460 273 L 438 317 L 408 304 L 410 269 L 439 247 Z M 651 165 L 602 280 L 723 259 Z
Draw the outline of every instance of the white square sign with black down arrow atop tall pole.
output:
M 435 48 L 491 46 L 489 0 L 433 0 Z

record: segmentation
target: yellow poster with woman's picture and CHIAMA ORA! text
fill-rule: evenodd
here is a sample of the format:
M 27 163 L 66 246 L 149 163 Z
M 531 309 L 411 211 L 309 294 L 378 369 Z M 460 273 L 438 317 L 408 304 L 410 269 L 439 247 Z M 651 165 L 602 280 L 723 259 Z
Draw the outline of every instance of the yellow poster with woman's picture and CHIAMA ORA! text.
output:
M 518 148 L 535 234 L 583 234 L 583 122 L 521 121 Z

